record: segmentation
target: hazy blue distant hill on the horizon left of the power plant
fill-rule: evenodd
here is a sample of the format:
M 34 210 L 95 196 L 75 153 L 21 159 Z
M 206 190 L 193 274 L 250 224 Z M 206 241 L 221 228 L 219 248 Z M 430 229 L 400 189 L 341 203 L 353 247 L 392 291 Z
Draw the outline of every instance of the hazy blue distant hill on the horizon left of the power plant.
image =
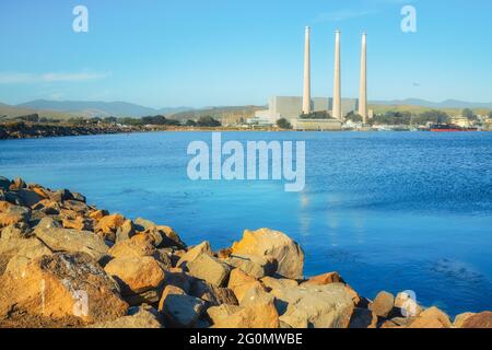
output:
M 101 101 L 48 101 L 36 100 L 16 105 L 15 107 L 35 110 L 56 110 L 74 114 L 83 117 L 142 117 L 150 115 L 171 115 L 174 113 L 192 109 L 190 107 L 176 108 L 150 108 L 127 102 L 101 102 Z

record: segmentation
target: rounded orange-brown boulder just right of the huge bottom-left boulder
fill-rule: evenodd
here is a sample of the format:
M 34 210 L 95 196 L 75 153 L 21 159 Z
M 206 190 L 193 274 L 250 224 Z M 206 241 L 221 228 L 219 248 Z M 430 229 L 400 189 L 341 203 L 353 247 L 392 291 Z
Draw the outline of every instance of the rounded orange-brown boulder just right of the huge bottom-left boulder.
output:
M 104 270 L 119 283 L 122 295 L 159 290 L 165 278 L 165 267 L 150 256 L 116 258 Z

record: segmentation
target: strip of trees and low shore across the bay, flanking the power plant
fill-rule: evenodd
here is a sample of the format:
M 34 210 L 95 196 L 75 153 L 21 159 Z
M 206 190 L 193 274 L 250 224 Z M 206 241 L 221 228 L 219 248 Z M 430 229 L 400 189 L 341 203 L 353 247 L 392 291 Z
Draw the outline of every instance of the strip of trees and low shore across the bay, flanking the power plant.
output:
M 492 130 L 489 121 L 478 122 L 478 117 L 471 110 L 464 110 L 465 120 L 480 126 L 482 131 Z M 492 113 L 491 113 L 492 115 Z M 325 116 L 326 117 L 326 116 Z M 328 116 L 329 117 L 329 116 Z M 314 116 L 313 118 L 319 118 Z M 70 118 L 65 120 L 39 117 L 38 114 L 0 117 L 0 140 L 28 139 L 45 137 L 65 137 L 82 135 L 130 133 L 151 131 L 290 131 L 292 125 L 284 118 L 276 126 L 247 125 L 244 118 L 241 122 L 226 124 L 213 116 L 200 116 L 198 119 L 178 120 L 162 115 L 142 118 Z M 425 131 L 430 124 L 448 124 L 452 119 L 440 110 L 425 112 L 419 116 L 405 113 L 387 112 L 377 115 L 370 126 L 361 125 L 361 117 L 354 114 L 347 116 L 347 126 L 332 131 Z M 492 121 L 492 118 L 489 118 Z M 487 119 L 487 120 L 489 120 Z M 485 119 L 483 119 L 485 120 Z

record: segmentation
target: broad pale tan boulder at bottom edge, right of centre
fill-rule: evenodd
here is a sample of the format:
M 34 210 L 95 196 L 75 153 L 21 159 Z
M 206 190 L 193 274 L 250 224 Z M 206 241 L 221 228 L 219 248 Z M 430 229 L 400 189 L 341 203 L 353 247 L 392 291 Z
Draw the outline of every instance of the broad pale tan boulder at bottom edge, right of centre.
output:
M 352 295 L 341 283 L 276 289 L 280 320 L 293 328 L 347 328 L 353 311 Z

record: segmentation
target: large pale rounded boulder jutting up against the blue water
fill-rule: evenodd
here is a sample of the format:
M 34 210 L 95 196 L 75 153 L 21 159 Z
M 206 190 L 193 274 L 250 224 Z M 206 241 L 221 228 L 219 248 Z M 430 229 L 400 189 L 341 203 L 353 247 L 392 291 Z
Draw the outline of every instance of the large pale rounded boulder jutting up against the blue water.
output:
M 303 278 L 304 252 L 297 243 L 279 231 L 245 230 L 243 238 L 232 246 L 235 255 L 271 256 L 277 260 L 277 273 L 284 278 Z

